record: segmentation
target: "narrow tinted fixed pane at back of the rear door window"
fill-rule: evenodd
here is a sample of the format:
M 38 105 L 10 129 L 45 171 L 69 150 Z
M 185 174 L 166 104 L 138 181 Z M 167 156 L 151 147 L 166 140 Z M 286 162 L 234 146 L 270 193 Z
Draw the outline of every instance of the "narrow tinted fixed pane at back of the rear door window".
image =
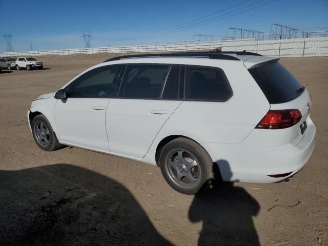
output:
M 180 67 L 172 66 L 163 90 L 163 94 L 162 94 L 163 99 L 179 98 L 179 80 L 180 80 Z

